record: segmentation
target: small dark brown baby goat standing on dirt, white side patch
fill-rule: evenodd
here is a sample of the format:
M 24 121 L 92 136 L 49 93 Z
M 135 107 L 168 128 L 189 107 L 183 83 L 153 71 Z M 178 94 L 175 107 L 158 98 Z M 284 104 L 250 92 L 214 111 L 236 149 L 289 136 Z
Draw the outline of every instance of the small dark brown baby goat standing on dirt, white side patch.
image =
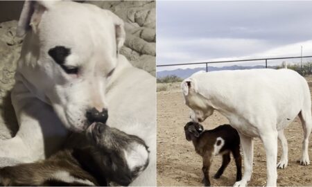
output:
M 195 150 L 202 156 L 202 172 L 204 173 L 205 186 L 210 186 L 209 168 L 212 158 L 218 154 L 223 157 L 215 179 L 220 178 L 223 171 L 231 160 L 229 154 L 232 152 L 236 163 L 236 181 L 241 180 L 241 154 L 239 153 L 239 133 L 230 125 L 220 125 L 214 130 L 205 130 L 199 123 L 189 122 L 184 126 L 187 141 L 193 141 Z

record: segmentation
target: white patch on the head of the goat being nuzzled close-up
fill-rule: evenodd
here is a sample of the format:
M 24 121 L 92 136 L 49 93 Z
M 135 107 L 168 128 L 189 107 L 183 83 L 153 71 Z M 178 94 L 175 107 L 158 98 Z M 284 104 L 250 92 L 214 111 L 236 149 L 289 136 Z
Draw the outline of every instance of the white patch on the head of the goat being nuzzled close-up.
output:
M 148 150 L 146 150 L 144 145 L 132 143 L 129 145 L 128 150 L 125 150 L 125 160 L 131 172 L 136 168 L 140 168 L 140 171 L 143 171 L 144 166 L 148 162 Z

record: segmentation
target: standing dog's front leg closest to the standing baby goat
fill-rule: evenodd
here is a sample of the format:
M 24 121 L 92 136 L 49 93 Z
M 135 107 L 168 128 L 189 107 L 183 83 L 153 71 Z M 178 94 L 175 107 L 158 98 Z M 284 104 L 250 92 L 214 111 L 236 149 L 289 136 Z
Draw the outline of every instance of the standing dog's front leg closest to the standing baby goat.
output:
M 244 175 L 240 181 L 236 181 L 234 186 L 247 186 L 252 175 L 252 163 L 254 161 L 254 145 L 252 138 L 239 133 L 241 139 L 241 147 L 243 148 L 244 155 Z

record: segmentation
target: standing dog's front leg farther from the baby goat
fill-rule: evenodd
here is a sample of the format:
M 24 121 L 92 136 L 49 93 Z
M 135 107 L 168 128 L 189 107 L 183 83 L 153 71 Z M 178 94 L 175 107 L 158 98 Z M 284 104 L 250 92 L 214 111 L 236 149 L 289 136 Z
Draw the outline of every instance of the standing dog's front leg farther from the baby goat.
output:
M 266 186 L 277 186 L 277 131 L 265 132 L 260 136 L 266 150 Z

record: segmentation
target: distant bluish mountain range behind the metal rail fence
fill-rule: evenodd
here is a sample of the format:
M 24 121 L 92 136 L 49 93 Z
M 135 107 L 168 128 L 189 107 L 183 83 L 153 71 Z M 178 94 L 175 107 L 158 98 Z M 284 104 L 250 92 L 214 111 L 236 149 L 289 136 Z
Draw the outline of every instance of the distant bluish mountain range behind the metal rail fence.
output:
M 268 66 L 270 69 L 276 69 L 277 66 Z M 221 70 L 237 70 L 237 69 L 263 69 L 266 66 L 223 66 L 223 67 L 214 67 L 208 66 L 208 71 L 221 71 Z M 188 78 L 193 73 L 197 71 L 206 71 L 206 68 L 194 68 L 194 69 L 175 69 L 175 70 L 165 70 L 165 71 L 157 71 L 157 78 L 163 78 L 167 75 L 177 75 L 179 78 Z

